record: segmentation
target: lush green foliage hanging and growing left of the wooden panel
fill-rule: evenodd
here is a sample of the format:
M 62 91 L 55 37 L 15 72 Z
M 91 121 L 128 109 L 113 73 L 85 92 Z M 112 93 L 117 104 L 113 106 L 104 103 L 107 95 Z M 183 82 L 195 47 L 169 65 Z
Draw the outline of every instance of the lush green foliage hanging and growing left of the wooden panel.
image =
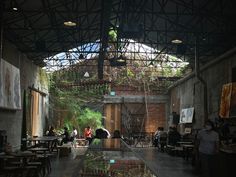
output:
M 74 78 L 74 75 L 69 71 L 68 73 L 66 71 L 54 72 L 50 78 L 50 105 L 53 110 L 63 112 L 55 118 L 63 121 L 63 124 L 60 125 L 61 128 L 67 127 L 71 132 L 74 126 L 81 134 L 87 126 L 94 129 L 101 127 L 102 114 L 83 107 L 88 102 L 101 101 L 101 95 L 106 89 L 103 88 L 103 85 L 94 86 L 94 88 L 87 86 L 83 86 L 83 88 L 63 87 L 63 85 L 69 85 Z M 61 131 L 63 130 L 61 129 Z

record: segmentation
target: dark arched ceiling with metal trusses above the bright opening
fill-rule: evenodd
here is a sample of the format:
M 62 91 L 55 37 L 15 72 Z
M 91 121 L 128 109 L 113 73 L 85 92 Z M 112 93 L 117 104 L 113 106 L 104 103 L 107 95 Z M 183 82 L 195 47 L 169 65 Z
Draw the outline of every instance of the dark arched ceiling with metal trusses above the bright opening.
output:
M 233 0 L 1 0 L 3 38 L 34 63 L 78 48 L 97 53 L 99 78 L 108 52 L 109 30 L 158 54 L 177 55 L 194 66 L 195 47 L 206 63 L 236 44 Z M 65 22 L 72 22 L 69 26 Z M 73 23 L 74 26 L 73 26 Z M 174 39 L 182 43 L 176 44 Z M 91 47 L 96 43 L 99 50 Z M 79 59 L 79 57 L 78 57 Z

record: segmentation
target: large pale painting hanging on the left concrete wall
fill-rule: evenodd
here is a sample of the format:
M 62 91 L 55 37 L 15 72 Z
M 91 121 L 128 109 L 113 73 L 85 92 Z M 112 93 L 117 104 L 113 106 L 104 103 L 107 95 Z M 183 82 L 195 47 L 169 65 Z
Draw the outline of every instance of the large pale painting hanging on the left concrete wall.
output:
M 21 109 L 20 70 L 3 59 L 0 68 L 0 108 Z

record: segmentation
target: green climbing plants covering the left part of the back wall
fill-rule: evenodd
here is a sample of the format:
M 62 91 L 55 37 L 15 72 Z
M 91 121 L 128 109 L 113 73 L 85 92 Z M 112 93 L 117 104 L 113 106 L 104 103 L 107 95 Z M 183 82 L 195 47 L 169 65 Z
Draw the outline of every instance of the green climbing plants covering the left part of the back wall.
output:
M 61 82 L 58 82 L 60 77 L 55 73 L 50 78 L 50 109 L 56 127 L 66 126 L 71 131 L 73 126 L 80 130 L 88 125 L 95 128 L 101 126 L 102 114 L 89 109 L 88 105 L 91 102 L 101 102 L 102 92 L 96 92 L 95 89 L 61 87 Z

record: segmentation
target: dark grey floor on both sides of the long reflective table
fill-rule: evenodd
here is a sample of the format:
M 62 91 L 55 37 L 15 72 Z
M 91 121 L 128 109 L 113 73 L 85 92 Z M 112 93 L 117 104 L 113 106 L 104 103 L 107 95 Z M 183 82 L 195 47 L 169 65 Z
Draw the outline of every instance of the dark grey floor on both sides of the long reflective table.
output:
M 52 158 L 52 172 L 49 177 L 74 177 L 86 149 L 72 148 L 68 156 Z M 182 157 L 170 156 L 154 147 L 135 148 L 133 151 L 158 174 L 158 177 L 197 177 L 191 161 L 186 161 Z

